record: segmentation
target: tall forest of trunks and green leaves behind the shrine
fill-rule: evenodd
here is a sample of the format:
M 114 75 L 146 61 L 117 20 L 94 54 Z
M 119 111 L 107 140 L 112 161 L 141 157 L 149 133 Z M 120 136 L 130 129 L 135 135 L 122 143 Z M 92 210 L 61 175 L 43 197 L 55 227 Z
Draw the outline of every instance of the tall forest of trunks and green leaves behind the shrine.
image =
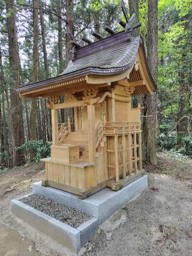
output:
M 135 35 L 145 41 L 158 92 L 133 98 L 141 103 L 143 160 L 157 164 L 157 150 L 192 157 L 192 1 L 129 0 L 130 15 L 142 22 Z M 52 140 L 46 99 L 19 99 L 16 88 L 59 75 L 70 61 L 70 37 L 91 37 L 104 25 L 122 27 L 120 0 L 0 0 L 1 170 L 49 155 Z M 157 72 L 158 71 L 158 72 Z M 64 101 L 65 96 L 60 101 Z M 62 111 L 59 123 L 73 118 Z

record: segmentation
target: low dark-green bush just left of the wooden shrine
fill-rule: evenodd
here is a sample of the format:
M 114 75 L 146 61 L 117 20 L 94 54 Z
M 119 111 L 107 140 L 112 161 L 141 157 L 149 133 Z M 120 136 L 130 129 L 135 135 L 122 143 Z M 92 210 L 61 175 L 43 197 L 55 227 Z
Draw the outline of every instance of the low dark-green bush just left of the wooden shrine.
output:
M 17 150 L 25 150 L 28 152 L 27 154 L 27 160 L 30 162 L 30 150 L 34 150 L 35 157 L 34 162 L 37 163 L 40 161 L 41 158 L 49 157 L 50 156 L 50 146 L 52 145 L 52 142 L 47 141 L 46 144 L 43 144 L 43 141 L 26 141 L 25 144 L 22 144 L 20 147 L 17 148 Z

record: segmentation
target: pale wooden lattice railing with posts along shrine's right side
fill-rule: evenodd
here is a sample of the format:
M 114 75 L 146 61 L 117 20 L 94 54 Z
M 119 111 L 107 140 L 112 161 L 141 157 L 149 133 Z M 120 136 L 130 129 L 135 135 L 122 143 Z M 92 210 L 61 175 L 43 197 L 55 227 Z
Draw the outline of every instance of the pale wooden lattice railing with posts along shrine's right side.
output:
M 142 131 L 140 123 L 106 123 L 107 169 L 109 178 L 131 177 L 142 171 Z

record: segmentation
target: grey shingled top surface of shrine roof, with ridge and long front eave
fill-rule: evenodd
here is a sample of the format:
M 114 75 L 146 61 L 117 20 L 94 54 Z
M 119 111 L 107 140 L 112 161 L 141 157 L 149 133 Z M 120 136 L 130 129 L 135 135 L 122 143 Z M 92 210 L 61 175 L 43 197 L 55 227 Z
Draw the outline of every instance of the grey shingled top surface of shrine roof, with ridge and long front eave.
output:
M 17 93 L 37 90 L 37 88 L 44 88 L 88 75 L 110 76 L 123 73 L 133 66 L 142 44 L 140 37 L 132 37 L 130 33 L 125 31 L 110 35 L 77 49 L 74 59 L 68 63 L 67 68 L 60 75 L 19 87 Z M 144 50 L 143 47 L 142 49 Z

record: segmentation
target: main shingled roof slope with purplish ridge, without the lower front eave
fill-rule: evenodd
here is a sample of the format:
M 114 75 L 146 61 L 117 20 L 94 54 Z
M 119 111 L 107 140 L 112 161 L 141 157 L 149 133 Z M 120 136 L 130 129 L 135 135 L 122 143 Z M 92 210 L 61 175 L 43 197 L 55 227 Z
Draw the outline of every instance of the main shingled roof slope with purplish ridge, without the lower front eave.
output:
M 140 37 L 131 37 L 126 32 L 111 35 L 77 50 L 61 75 L 86 68 L 95 75 L 124 72 L 133 66 L 139 44 Z

